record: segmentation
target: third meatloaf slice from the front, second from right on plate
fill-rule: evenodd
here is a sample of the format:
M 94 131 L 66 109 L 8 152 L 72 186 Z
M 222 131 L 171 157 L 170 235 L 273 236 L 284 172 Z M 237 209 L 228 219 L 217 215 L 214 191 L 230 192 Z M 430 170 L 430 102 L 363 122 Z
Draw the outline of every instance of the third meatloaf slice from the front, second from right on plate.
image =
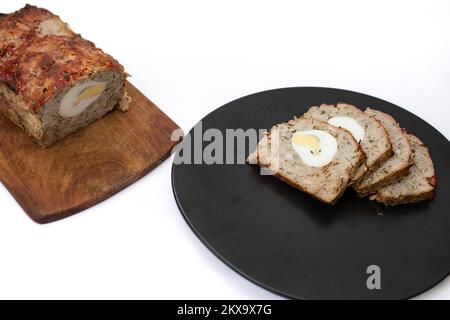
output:
M 359 196 L 364 197 L 376 193 L 380 188 L 388 186 L 409 173 L 412 164 L 412 149 L 407 134 L 390 115 L 367 108 L 364 112 L 377 119 L 386 128 L 393 147 L 394 155 L 385 161 L 377 170 L 354 185 Z

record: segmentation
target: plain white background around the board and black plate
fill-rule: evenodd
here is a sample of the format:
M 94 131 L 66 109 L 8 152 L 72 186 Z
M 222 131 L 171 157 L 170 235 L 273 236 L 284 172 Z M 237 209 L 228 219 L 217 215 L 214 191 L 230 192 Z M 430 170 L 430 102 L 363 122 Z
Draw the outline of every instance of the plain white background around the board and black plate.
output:
M 1 1 L 0 12 L 25 3 Z M 243 95 L 328 86 L 391 101 L 450 136 L 448 0 L 34 4 L 114 55 L 185 132 Z M 277 299 L 193 235 L 170 169 L 168 160 L 106 202 L 44 226 L 0 185 L 0 298 Z M 450 299 L 450 279 L 419 298 Z

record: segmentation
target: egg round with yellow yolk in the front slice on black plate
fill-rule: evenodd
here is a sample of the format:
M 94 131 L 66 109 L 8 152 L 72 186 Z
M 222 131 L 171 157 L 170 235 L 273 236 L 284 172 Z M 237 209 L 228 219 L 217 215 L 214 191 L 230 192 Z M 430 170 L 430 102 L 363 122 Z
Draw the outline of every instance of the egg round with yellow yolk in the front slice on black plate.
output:
M 297 131 L 291 146 L 303 163 L 317 168 L 328 165 L 338 152 L 336 138 L 322 130 Z

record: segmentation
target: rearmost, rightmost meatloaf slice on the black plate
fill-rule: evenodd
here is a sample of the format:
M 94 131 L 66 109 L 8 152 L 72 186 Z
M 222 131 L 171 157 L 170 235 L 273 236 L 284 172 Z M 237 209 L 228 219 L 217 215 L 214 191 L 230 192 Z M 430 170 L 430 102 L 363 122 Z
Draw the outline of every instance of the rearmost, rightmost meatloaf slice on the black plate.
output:
M 416 203 L 432 199 L 436 189 L 433 161 L 427 147 L 416 136 L 409 134 L 413 150 L 413 165 L 408 176 L 377 191 L 372 200 L 387 206 Z

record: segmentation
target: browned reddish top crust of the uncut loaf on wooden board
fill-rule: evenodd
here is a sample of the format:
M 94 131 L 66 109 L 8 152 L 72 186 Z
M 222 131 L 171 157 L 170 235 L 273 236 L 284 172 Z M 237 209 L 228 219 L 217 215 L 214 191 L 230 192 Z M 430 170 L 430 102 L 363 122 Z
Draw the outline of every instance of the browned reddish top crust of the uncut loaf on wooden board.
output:
M 35 114 L 62 88 L 96 72 L 124 73 L 114 58 L 67 25 L 42 32 L 42 22 L 49 19 L 62 23 L 49 11 L 29 5 L 0 19 L 0 82 Z

